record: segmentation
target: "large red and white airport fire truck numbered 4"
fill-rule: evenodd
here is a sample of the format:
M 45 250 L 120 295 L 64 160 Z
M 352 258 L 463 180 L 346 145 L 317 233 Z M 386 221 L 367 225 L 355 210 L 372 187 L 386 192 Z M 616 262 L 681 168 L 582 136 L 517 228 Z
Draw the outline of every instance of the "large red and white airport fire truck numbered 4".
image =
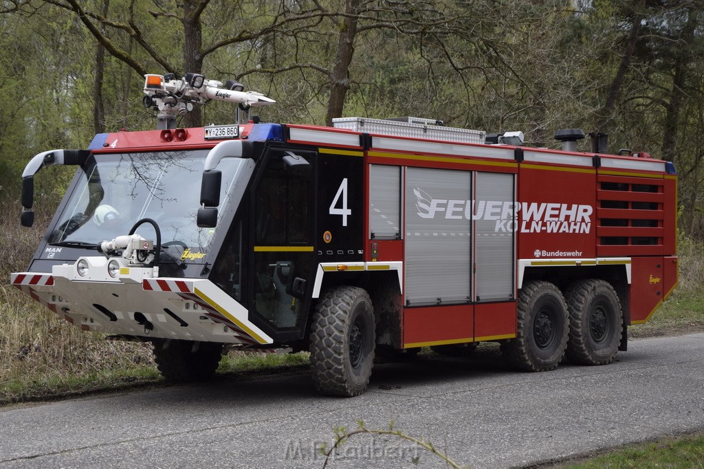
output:
M 222 353 L 310 351 L 315 388 L 351 397 L 377 355 L 501 342 L 525 371 L 608 364 L 677 285 L 677 176 L 648 153 L 578 152 L 413 117 L 260 122 L 274 101 L 187 74 L 146 75 L 151 131 L 49 150 L 75 176 L 11 283 L 82 330 L 153 343 L 170 380 Z M 234 123 L 177 128 L 211 100 Z

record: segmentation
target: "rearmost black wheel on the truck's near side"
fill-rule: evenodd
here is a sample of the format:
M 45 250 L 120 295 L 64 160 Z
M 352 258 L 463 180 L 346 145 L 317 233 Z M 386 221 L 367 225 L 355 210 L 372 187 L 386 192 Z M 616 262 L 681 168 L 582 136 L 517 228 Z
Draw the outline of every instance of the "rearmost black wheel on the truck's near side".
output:
M 621 341 L 623 313 L 616 290 L 603 280 L 587 279 L 565 290 L 570 313 L 567 358 L 582 365 L 610 363 Z

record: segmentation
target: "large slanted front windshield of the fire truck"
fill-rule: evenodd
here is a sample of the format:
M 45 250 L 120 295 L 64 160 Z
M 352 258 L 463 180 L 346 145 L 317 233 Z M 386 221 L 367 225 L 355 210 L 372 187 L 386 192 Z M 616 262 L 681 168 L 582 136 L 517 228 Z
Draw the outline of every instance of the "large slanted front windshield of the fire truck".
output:
M 126 235 L 137 221 L 151 218 L 161 230 L 163 246 L 180 247 L 182 259 L 199 262 L 217 229 L 196 226 L 206 155 L 208 150 L 96 155 L 95 164 L 89 162 L 70 193 L 49 243 L 98 244 Z M 243 165 L 240 158 L 225 158 L 218 165 L 225 204 Z M 218 225 L 225 212 L 222 205 L 219 208 Z M 137 233 L 156 240 L 149 224 Z

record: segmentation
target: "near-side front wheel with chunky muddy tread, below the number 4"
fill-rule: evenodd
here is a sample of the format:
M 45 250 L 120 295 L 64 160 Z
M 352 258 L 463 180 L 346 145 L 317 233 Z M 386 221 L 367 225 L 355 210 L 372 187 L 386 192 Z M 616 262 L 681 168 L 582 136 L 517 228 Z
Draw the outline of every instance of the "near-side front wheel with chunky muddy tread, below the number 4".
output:
M 374 330 L 372 300 L 365 290 L 343 286 L 322 295 L 310 333 L 315 389 L 332 396 L 362 394 L 372 375 Z

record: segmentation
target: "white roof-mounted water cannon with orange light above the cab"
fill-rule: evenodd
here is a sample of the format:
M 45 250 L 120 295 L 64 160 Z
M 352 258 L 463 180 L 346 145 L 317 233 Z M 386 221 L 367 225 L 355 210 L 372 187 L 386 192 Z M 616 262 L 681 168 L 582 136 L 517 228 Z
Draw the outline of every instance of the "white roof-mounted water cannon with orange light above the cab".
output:
M 227 80 L 225 86 L 222 82 L 209 80 L 198 73 L 187 73 L 182 79 L 175 75 L 144 75 L 144 103 L 145 108 L 158 110 L 158 123 L 156 128 L 175 129 L 176 117 L 186 115 L 193 110 L 194 104 L 206 104 L 213 99 L 237 103 L 237 121 L 239 110 L 245 110 L 249 120 L 249 109 L 264 105 L 274 104 L 256 91 L 243 91 L 244 85 L 233 79 Z

